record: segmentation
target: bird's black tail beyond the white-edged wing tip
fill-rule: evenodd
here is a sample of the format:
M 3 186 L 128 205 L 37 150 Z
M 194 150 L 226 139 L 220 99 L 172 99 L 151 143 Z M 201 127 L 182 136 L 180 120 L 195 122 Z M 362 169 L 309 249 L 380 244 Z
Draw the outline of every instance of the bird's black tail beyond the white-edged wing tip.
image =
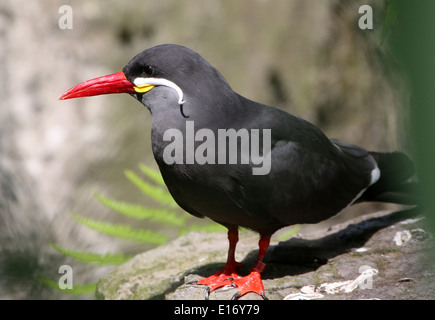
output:
M 410 181 L 415 174 L 414 163 L 402 152 L 369 152 L 381 172 L 379 180 L 367 188 L 358 199 L 398 204 L 417 205 L 416 182 Z

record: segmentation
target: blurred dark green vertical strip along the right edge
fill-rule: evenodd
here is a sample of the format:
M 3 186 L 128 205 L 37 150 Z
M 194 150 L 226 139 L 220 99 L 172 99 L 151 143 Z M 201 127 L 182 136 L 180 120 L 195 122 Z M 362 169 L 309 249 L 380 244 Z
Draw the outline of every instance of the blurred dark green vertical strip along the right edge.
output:
M 392 48 L 406 74 L 411 135 L 419 192 L 428 226 L 435 231 L 435 2 L 396 0 L 398 19 Z M 435 261 L 433 252 L 431 258 Z

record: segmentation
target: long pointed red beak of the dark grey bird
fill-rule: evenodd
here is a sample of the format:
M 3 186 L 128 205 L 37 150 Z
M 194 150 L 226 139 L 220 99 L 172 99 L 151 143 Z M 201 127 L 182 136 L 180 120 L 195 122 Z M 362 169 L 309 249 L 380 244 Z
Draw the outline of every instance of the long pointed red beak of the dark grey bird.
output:
M 109 74 L 82 82 L 65 92 L 59 100 L 97 96 L 108 93 L 133 93 L 134 84 L 127 80 L 124 72 Z

